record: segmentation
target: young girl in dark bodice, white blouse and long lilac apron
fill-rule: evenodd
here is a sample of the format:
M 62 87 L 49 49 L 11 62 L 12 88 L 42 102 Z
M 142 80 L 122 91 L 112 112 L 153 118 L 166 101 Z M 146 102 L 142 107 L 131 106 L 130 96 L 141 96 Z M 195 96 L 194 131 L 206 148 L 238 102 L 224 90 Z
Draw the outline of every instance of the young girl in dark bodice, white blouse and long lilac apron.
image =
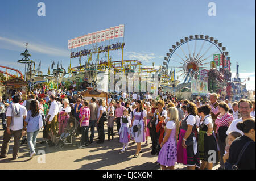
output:
M 129 145 L 130 141 L 130 127 L 131 127 L 131 117 L 128 116 L 128 110 L 123 110 L 123 116 L 120 119 L 121 128 L 119 130 L 120 140 L 123 143 L 123 149 L 121 152 L 125 151 Z

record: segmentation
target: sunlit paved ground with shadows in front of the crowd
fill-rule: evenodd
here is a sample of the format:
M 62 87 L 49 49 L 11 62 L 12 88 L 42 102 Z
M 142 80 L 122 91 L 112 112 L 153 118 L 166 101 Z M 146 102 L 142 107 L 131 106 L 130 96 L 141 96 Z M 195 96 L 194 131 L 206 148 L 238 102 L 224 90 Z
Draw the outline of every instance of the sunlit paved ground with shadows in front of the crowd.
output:
M 29 159 L 28 145 L 22 145 L 19 149 L 19 158 L 12 160 L 12 149 L 14 140 L 11 138 L 10 148 L 6 158 L 0 159 L 1 169 L 100 169 L 100 170 L 120 170 L 120 169 L 135 169 L 135 170 L 158 170 L 160 166 L 155 165 L 157 155 L 151 155 L 150 146 L 151 140 L 148 138 L 148 145 L 142 144 L 143 153 L 139 154 L 138 158 L 133 158 L 136 151 L 136 144 L 129 144 L 129 148 L 124 153 L 121 153 L 122 144 L 118 143 L 116 127 L 114 127 L 114 140 L 106 141 L 104 144 L 90 145 L 88 148 L 80 149 L 77 146 L 65 145 L 64 149 L 60 150 L 54 147 L 49 147 L 47 144 L 39 144 L 42 141 L 42 132 L 39 132 L 36 144 L 36 153 L 40 150 L 45 151 L 45 163 L 43 155 L 36 155 L 32 160 Z M 105 125 L 106 132 L 106 125 Z M 90 135 L 90 132 L 89 132 Z M 95 138 L 98 137 L 97 131 Z M 105 135 L 105 138 L 108 138 Z M 79 141 L 79 137 L 77 137 Z M 3 142 L 3 130 L 0 131 L 0 145 Z M 96 142 L 96 141 L 94 141 Z M 218 168 L 214 166 L 213 169 Z M 181 164 L 176 164 L 175 169 L 185 169 Z

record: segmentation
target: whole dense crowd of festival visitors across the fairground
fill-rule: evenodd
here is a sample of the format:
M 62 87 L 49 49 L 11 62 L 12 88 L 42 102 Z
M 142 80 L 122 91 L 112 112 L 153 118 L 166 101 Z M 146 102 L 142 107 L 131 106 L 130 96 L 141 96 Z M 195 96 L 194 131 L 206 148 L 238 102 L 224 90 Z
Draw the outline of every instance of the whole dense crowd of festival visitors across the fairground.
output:
M 48 146 L 67 141 L 73 133 L 81 134 L 78 148 L 87 148 L 95 140 L 102 144 L 106 124 L 107 140 L 117 136 L 123 144 L 121 152 L 137 144 L 133 158 L 139 157 L 141 145 L 149 144 L 151 137 L 151 155 L 158 155 L 155 164 L 163 170 L 173 170 L 176 163 L 189 170 L 211 170 L 213 163 L 220 163 L 220 170 L 255 169 L 255 101 L 246 99 L 219 102 L 218 95 L 211 94 L 205 102 L 178 100 L 159 90 L 156 99 L 148 92 L 130 96 L 121 92 L 109 94 L 108 100 L 85 100 L 80 92 L 39 88 L 23 102 L 20 94 L 6 101 L 0 96 L 0 117 L 5 129 L 0 158 L 6 157 L 14 136 L 13 159 L 18 158 L 19 145 L 26 143 L 32 159 L 40 129 L 40 144 L 48 142 Z

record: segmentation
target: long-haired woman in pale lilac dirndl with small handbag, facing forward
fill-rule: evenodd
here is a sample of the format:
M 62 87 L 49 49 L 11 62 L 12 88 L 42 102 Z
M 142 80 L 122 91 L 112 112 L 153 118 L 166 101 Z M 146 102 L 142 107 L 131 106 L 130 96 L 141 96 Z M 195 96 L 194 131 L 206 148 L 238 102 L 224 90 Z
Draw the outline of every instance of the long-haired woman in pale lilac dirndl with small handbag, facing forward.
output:
M 141 100 L 136 101 L 137 109 L 134 110 L 134 116 L 133 120 L 131 121 L 133 123 L 133 127 L 131 127 L 131 134 L 137 143 L 137 149 L 136 153 L 133 158 L 137 158 L 139 156 L 139 153 L 142 153 L 141 151 L 141 143 L 145 142 L 146 137 L 146 116 L 147 111 L 143 109 L 143 104 Z M 137 132 L 134 132 L 134 127 L 137 126 L 139 129 Z

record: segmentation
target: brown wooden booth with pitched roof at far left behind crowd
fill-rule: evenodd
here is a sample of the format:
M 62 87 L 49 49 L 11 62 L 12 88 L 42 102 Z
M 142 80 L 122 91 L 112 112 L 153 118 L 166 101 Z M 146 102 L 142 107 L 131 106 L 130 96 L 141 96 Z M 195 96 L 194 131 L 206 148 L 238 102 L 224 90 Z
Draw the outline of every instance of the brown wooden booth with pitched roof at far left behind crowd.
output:
M 27 91 L 28 91 L 28 82 L 21 78 L 13 78 L 8 81 L 2 82 L 5 86 L 6 96 L 11 96 L 12 92 L 18 92 L 21 90 L 22 92 L 22 100 L 27 99 Z

